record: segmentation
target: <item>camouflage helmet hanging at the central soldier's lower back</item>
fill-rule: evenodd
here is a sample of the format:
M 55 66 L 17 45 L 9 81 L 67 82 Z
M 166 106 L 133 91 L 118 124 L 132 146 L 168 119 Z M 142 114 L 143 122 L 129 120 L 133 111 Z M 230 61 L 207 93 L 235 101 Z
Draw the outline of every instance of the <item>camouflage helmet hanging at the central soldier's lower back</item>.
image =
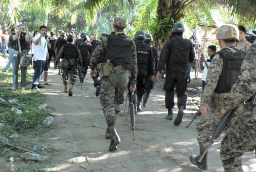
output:
M 118 73 L 109 75 L 109 79 L 114 87 L 122 88 L 127 86 L 129 75 L 127 71 L 120 71 Z

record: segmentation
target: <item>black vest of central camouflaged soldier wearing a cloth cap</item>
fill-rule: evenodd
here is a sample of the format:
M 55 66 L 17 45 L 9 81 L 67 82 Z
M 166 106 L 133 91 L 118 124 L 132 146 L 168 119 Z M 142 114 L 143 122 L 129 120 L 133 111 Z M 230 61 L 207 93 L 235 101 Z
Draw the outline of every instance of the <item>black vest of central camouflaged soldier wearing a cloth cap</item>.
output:
M 133 39 L 130 37 L 109 34 L 108 50 L 101 63 L 109 59 L 114 66 L 121 64 L 124 68 L 133 69 L 132 46 Z

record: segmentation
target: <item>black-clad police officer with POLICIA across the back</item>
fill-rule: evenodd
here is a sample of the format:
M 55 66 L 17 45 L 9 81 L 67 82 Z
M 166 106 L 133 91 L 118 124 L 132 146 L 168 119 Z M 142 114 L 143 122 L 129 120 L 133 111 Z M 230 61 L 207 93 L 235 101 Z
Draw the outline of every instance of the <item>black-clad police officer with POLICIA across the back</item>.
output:
M 137 50 L 137 61 L 138 61 L 138 75 L 137 75 L 137 106 L 135 100 L 135 107 L 138 111 L 141 111 L 141 101 L 143 95 L 145 94 L 145 80 L 147 75 L 149 75 L 149 80 L 154 79 L 154 60 L 153 52 L 150 46 L 144 43 L 146 39 L 145 32 L 138 30 L 134 36 L 135 45 Z M 137 113 L 135 108 L 135 113 Z

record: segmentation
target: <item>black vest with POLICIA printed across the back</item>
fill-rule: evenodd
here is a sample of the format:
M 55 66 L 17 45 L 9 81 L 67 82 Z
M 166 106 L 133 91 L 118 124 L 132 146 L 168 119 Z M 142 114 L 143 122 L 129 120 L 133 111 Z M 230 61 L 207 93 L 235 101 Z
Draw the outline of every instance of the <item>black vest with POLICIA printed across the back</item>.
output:
M 137 50 L 138 69 L 148 68 L 148 58 L 151 48 L 142 42 L 135 42 Z

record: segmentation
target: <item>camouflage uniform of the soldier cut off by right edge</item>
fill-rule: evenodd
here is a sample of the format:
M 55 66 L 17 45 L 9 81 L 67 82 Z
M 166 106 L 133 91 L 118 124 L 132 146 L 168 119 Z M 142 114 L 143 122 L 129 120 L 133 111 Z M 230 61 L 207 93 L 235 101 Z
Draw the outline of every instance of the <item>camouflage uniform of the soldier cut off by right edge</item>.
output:
M 223 107 L 230 111 L 256 93 L 256 44 L 251 46 L 243 61 L 242 75 L 225 96 Z M 256 105 L 247 102 L 243 113 L 232 122 L 221 146 L 221 159 L 226 172 L 243 171 L 242 154 L 256 147 Z

